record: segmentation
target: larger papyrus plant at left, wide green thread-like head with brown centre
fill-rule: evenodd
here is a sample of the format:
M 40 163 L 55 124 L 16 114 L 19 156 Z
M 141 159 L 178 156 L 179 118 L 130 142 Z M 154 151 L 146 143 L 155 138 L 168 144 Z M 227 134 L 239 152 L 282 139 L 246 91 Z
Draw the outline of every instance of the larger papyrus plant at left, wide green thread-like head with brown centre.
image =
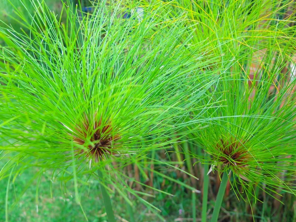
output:
M 74 179 L 79 203 L 79 183 L 92 177 L 100 181 L 109 221 L 114 221 L 110 186 L 128 204 L 128 192 L 145 196 L 129 187 L 134 179 L 121 169 L 137 164 L 146 176 L 148 165 L 139 160 L 169 146 L 176 132 L 185 132 L 179 120 L 192 108 L 186 98 L 197 89 L 192 97 L 202 97 L 200 89 L 212 77 L 194 75 L 196 60 L 184 47 L 187 40 L 180 43 L 184 22 L 159 17 L 161 5 L 146 6 L 144 14 L 130 10 L 125 19 L 123 2 L 102 1 L 92 15 L 81 15 L 68 2 L 62 8 L 66 20 L 43 1 L 30 5 L 35 9 L 30 20 L 15 8 L 15 19 L 27 32 L 5 23 L 0 28 L 0 149 L 5 162 L 0 179 L 15 180 L 30 167 L 40 169 L 36 178 L 51 170 L 53 180 Z M 189 85 L 191 92 L 184 87 Z

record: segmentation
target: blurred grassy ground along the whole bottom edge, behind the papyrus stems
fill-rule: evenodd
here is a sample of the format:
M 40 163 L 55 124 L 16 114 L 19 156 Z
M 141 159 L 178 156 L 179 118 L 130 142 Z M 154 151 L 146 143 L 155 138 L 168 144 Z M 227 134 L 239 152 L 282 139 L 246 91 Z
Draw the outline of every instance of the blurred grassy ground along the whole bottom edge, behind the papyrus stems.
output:
M 27 186 L 27 182 L 32 178 L 32 175 L 36 173 L 36 169 L 30 169 L 24 174 L 19 176 L 18 180 L 14 185 L 10 185 L 9 198 L 14 195 L 14 192 L 18 195 Z M 50 172 L 45 173 L 45 175 L 50 178 Z M 173 175 L 173 174 L 172 174 Z M 73 222 L 73 221 L 85 221 L 85 218 L 81 212 L 80 206 L 75 202 L 74 195 L 74 184 L 69 183 L 67 186 L 67 194 L 64 196 L 61 193 L 61 185 L 59 183 L 52 184 L 52 197 L 50 195 L 50 180 L 49 178 L 41 179 L 42 183 L 38 186 L 38 213 L 36 211 L 36 183 L 30 185 L 26 193 L 21 197 L 19 203 L 13 208 L 13 213 L 9 214 L 9 221 L 13 222 Z M 213 181 L 215 178 L 210 177 Z M 155 178 L 157 180 L 157 178 Z M 1 187 L 6 187 L 6 181 L 2 180 L 0 182 Z M 85 214 L 90 222 L 104 222 L 107 220 L 104 204 L 100 197 L 100 188 L 97 181 L 93 181 L 95 185 L 90 186 L 81 192 L 81 204 L 85 210 Z M 155 184 L 161 184 L 160 182 L 155 182 Z M 174 191 L 174 197 L 168 197 L 167 195 L 158 194 L 155 198 L 150 198 L 151 203 L 155 204 L 159 209 L 162 210 L 161 215 L 166 219 L 166 221 L 180 220 L 181 218 L 191 218 L 191 193 L 190 191 L 182 188 L 175 187 L 174 185 L 164 186 L 166 191 Z M 214 185 L 210 186 L 211 191 L 215 191 Z M 5 189 L 1 189 L 0 192 L 0 203 L 5 204 Z M 71 196 L 72 194 L 72 196 Z M 215 194 L 209 197 L 209 210 L 212 210 L 215 204 Z M 263 198 L 263 197 L 260 197 Z M 263 199 L 262 199 L 263 200 Z M 256 213 L 254 218 L 256 221 L 268 222 L 273 220 L 283 220 L 284 222 L 293 222 L 295 218 L 295 196 L 291 194 L 284 194 L 282 201 L 285 205 L 279 204 L 276 208 L 274 207 L 273 199 L 268 198 L 265 204 L 258 203 L 256 205 Z M 127 208 L 124 199 L 121 196 L 112 196 L 113 208 L 115 212 L 115 217 L 120 216 L 120 218 L 129 221 L 129 215 L 127 213 Z M 11 201 L 9 201 L 11 203 Z M 149 213 L 149 211 L 142 205 L 139 205 L 139 201 L 133 200 L 135 205 L 134 211 L 135 221 L 149 221 L 157 222 L 159 219 Z M 229 203 L 229 205 L 228 205 Z M 201 194 L 196 194 L 196 215 L 197 221 L 201 218 L 201 206 L 202 199 Z M 280 212 L 280 213 L 279 213 Z M 284 215 L 284 216 L 283 216 Z M 248 204 L 244 201 L 238 201 L 235 195 L 232 193 L 228 197 L 224 198 L 222 203 L 222 221 L 231 222 L 249 222 L 252 221 L 253 216 L 248 210 Z M 118 221 L 123 221 L 118 219 Z M 0 220 L 5 221 L 5 211 L 4 208 L 0 209 Z M 209 216 L 208 216 L 209 220 Z

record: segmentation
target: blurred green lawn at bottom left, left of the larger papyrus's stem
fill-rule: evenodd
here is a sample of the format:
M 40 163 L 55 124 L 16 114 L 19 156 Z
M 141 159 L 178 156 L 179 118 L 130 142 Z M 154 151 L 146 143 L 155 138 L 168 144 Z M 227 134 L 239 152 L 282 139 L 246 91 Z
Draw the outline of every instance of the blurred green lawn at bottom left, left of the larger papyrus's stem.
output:
M 27 186 L 27 182 L 30 180 L 35 171 L 28 171 L 22 174 L 18 178 L 18 183 L 10 185 L 9 194 L 10 200 L 13 199 L 14 193 L 20 195 L 24 188 Z M 50 176 L 50 175 L 49 175 Z M 72 221 L 85 221 L 85 218 L 81 212 L 80 206 L 74 199 L 74 185 L 70 185 L 70 189 L 66 194 L 61 192 L 61 186 L 59 183 L 52 185 L 52 196 L 50 193 L 50 181 L 42 178 L 38 186 L 38 204 L 36 203 L 36 183 L 30 185 L 26 193 L 22 196 L 19 203 L 9 213 L 9 221 L 15 222 L 72 222 Z M 1 185 L 5 185 L 4 181 Z M 104 204 L 99 194 L 99 184 L 94 183 L 89 190 L 85 190 L 81 193 L 81 202 L 88 215 L 89 221 L 104 221 Z M 95 193 L 96 195 L 93 195 Z M 1 192 L 0 200 L 5 200 L 5 192 Z M 122 200 L 121 200 L 122 202 Z M 8 202 L 9 204 L 12 201 Z M 1 201 L 1 205 L 5 205 Z M 38 205 L 38 212 L 37 212 Z M 96 207 L 94 207 L 96 206 Z M 100 213 L 101 212 L 101 213 Z M 0 220 L 5 221 L 4 209 L 0 210 Z M 103 215 L 101 219 L 98 219 L 99 215 Z

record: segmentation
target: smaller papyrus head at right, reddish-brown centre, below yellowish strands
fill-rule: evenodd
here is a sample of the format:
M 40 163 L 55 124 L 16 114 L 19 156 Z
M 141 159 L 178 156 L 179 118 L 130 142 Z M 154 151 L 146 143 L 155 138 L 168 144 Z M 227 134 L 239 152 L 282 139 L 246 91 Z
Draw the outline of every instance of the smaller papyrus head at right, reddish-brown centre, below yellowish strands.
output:
M 275 198 L 279 192 L 296 191 L 295 80 L 280 86 L 274 70 L 261 70 L 251 86 L 246 76 L 229 70 L 213 88 L 213 99 L 224 99 L 222 107 L 205 112 L 211 123 L 193 133 L 199 147 L 210 154 L 200 156 L 201 162 L 211 165 L 210 172 L 223 174 L 221 187 L 225 189 L 229 180 L 239 199 L 257 199 L 256 186 Z

